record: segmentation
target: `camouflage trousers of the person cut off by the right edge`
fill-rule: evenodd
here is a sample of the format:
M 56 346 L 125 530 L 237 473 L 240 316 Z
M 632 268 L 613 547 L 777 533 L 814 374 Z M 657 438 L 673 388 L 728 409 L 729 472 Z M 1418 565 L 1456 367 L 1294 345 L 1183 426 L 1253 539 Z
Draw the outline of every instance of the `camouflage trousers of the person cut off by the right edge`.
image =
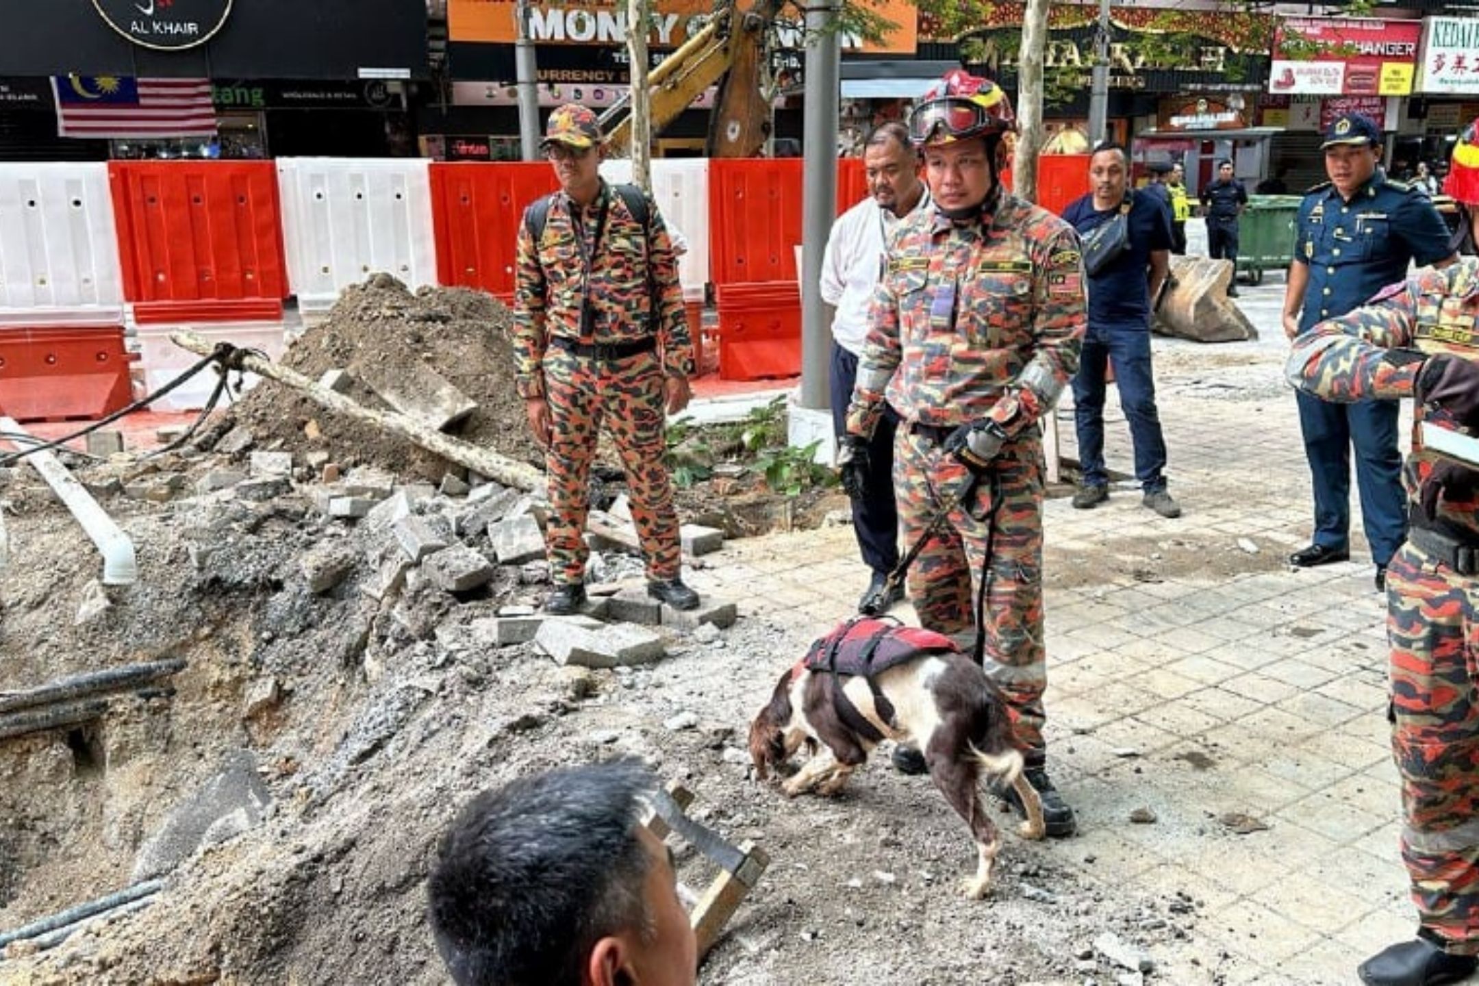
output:
M 1411 543 L 1387 569 L 1402 862 L 1424 928 L 1479 953 L 1479 578 Z

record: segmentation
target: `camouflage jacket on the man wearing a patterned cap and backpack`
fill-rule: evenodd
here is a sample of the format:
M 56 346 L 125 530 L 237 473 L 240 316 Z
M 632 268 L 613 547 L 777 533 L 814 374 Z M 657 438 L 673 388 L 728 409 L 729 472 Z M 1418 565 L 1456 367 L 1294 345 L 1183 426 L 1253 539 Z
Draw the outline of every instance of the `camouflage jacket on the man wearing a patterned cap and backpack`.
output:
M 602 197 L 608 203 L 606 225 L 587 275 L 584 254 L 596 235 Z M 600 195 L 581 211 L 578 228 L 571 208 L 572 203 L 563 192 L 550 198 L 538 244 L 529 235 L 528 222 L 519 222 L 513 288 L 513 356 L 519 395 L 544 395 L 541 364 L 550 339 L 609 344 L 630 343 L 655 331 L 667 374 L 691 375 L 694 347 L 683 312 L 683 290 L 677 281 L 677 259 L 651 197 L 649 238 L 605 182 Z M 592 334 L 581 339 L 580 313 L 586 303 L 593 309 Z M 655 325 L 649 318 L 654 303 L 658 306 Z

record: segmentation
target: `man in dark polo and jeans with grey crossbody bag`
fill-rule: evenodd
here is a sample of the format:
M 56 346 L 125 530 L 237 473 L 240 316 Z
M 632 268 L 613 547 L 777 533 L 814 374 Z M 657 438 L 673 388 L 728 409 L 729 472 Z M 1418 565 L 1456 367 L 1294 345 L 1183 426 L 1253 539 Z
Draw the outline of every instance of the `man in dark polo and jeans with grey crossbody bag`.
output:
M 1171 210 L 1155 195 L 1128 188 L 1130 155 L 1118 143 L 1100 143 L 1089 160 L 1090 191 L 1063 210 L 1063 219 L 1087 235 L 1112 222 L 1128 204 L 1128 248 L 1089 275 L 1089 333 L 1074 377 L 1074 427 L 1083 485 L 1074 494 L 1080 510 L 1109 498 L 1105 469 L 1105 370 L 1114 367 L 1120 407 L 1130 423 L 1134 477 L 1140 503 L 1162 517 L 1179 517 L 1180 506 L 1165 491 L 1165 438 L 1155 409 L 1151 371 L 1151 299 L 1160 297 L 1170 273 Z

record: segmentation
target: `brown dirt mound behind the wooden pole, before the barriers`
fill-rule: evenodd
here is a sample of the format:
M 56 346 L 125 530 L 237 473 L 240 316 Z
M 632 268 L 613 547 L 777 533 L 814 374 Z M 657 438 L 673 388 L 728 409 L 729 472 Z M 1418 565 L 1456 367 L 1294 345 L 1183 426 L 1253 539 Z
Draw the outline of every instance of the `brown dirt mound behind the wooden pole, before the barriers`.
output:
M 422 288 L 413 294 L 390 275 L 377 273 L 346 288 L 328 318 L 288 346 L 282 364 L 318 380 L 328 370 L 355 375 L 364 367 L 419 359 L 478 402 L 453 435 L 543 469 L 513 386 L 512 325 L 513 313 L 481 291 Z M 349 396 L 385 408 L 362 386 Z M 432 480 L 448 470 L 438 455 L 272 380 L 238 402 L 226 421 L 247 426 L 259 448 L 322 449 L 340 466 L 379 466 Z

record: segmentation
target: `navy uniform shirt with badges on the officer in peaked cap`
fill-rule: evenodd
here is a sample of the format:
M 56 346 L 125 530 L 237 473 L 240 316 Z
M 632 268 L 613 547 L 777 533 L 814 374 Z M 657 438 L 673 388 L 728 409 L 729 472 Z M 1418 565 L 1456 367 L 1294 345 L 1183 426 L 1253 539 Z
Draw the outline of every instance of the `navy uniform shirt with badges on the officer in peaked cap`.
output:
M 1407 276 L 1452 253 L 1448 226 L 1415 188 L 1387 180 L 1377 169 L 1347 203 L 1331 183 L 1304 195 L 1296 220 L 1294 260 L 1309 268 L 1299 330 L 1365 305 Z

